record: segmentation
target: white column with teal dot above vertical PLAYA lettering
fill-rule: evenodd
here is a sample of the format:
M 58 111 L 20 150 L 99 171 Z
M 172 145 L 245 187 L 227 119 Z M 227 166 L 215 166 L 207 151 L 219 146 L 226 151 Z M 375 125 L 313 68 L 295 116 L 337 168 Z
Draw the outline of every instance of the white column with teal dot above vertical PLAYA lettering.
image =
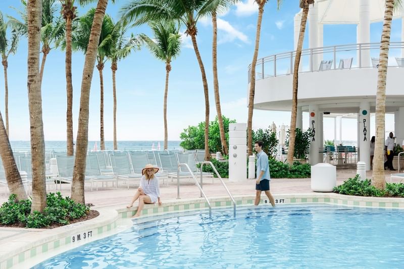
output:
M 361 102 L 359 105 L 359 159 L 366 163 L 366 170 L 370 170 L 370 103 Z

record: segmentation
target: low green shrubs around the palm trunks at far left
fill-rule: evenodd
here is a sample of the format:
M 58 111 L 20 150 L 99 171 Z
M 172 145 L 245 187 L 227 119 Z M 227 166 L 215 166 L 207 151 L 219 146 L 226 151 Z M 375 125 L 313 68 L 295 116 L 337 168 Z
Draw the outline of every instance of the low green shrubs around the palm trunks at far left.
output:
M 24 225 L 26 228 L 42 228 L 53 224 L 66 225 L 89 212 L 89 207 L 76 203 L 69 197 L 62 197 L 60 192 L 46 195 L 46 207 L 43 213 L 34 211 L 31 214 L 31 200 L 16 202 L 16 195 L 0 207 L 0 224 Z

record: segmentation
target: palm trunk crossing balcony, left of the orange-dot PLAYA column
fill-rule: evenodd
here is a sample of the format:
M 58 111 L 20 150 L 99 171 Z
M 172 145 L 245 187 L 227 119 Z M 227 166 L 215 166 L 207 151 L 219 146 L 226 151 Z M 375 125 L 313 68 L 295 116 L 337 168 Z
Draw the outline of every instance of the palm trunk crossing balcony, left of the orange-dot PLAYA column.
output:
M 294 156 L 294 141 L 296 138 L 296 115 L 297 115 L 297 89 L 299 82 L 299 65 L 301 58 L 301 48 L 303 47 L 303 40 L 305 39 L 307 17 L 309 15 L 309 5 L 303 9 L 300 22 L 300 33 L 297 41 L 296 57 L 294 58 L 293 66 L 293 94 L 292 94 L 292 116 L 290 118 L 289 129 L 289 148 L 287 151 L 286 160 L 289 165 L 293 165 Z

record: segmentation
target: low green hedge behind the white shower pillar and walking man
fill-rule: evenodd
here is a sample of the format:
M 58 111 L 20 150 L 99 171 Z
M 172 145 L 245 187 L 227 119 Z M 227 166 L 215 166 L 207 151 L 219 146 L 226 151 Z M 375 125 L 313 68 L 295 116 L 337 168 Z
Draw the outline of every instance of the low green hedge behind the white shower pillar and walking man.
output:
M 219 162 L 217 159 L 212 159 L 212 163 L 222 178 L 229 177 L 228 162 L 224 163 Z M 199 165 L 198 168 L 200 168 Z M 295 162 L 293 166 L 289 166 L 286 163 L 282 163 L 271 158 L 269 159 L 269 171 L 271 178 L 310 178 L 311 176 L 311 166 L 309 164 L 300 164 Z M 213 169 L 210 166 L 205 165 L 204 172 L 213 173 Z

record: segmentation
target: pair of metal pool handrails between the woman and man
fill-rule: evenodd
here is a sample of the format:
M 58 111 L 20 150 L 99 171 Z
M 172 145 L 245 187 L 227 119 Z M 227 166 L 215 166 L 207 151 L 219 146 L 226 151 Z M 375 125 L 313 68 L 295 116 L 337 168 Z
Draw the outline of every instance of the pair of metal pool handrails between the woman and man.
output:
M 204 197 L 208 206 L 209 206 L 209 217 L 212 218 L 212 206 L 211 203 L 209 202 L 208 197 L 206 196 L 204 190 L 202 189 L 203 187 L 203 168 L 204 165 L 210 165 L 215 172 L 216 176 L 219 178 L 220 182 L 222 183 L 223 187 L 227 191 L 227 194 L 229 194 L 231 201 L 233 202 L 233 215 L 236 217 L 236 201 L 234 200 L 233 195 L 231 195 L 229 189 L 227 188 L 226 184 L 224 183 L 222 177 L 219 175 L 218 171 L 216 170 L 215 166 L 212 164 L 212 162 L 201 162 L 200 163 L 200 184 L 198 180 L 196 179 L 195 175 L 192 173 L 191 169 L 189 168 L 188 164 L 178 164 L 178 169 L 177 169 L 177 199 L 180 199 L 180 168 L 185 167 L 188 172 L 191 174 L 193 180 L 195 181 L 195 185 L 198 187 L 200 190 L 200 197 Z

